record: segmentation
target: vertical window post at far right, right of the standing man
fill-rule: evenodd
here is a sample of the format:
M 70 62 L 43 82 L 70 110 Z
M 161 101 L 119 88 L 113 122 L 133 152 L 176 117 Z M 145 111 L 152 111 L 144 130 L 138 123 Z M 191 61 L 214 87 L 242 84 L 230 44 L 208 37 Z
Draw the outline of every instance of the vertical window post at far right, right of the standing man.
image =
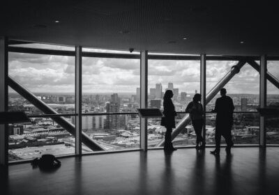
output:
M 266 55 L 261 56 L 259 68 L 259 107 L 266 107 Z M 266 118 L 259 119 L 259 145 L 266 146 Z

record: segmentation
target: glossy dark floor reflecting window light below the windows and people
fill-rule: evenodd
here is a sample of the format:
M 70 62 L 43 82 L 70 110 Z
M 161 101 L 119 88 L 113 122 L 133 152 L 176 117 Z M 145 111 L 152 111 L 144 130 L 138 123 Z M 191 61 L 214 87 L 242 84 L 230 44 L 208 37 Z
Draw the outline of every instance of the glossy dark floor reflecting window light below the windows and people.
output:
M 6 194 L 279 194 L 279 148 L 193 148 L 61 159 L 54 171 L 9 167 Z M 6 189 L 6 190 L 5 190 Z

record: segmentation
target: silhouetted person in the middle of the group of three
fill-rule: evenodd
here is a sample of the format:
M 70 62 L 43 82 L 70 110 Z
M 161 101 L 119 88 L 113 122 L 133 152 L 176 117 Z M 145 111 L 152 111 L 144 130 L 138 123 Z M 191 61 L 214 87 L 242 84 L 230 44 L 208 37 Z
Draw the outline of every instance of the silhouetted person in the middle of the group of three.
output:
M 202 138 L 202 127 L 204 125 L 203 118 L 203 107 L 199 101 L 202 99 L 202 96 L 199 93 L 196 93 L 193 98 L 193 102 L 190 102 L 186 108 L 186 112 L 190 113 L 190 118 L 192 120 L 192 125 L 194 127 L 195 133 L 197 135 L 196 148 L 204 148 L 205 142 Z M 199 146 L 199 143 L 202 143 Z

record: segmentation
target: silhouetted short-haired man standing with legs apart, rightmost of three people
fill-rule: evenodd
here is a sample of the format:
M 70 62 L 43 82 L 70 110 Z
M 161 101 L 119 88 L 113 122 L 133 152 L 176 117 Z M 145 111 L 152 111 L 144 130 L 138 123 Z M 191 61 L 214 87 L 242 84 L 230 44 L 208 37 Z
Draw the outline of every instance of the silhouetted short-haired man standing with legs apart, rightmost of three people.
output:
M 221 135 L 225 138 L 227 143 L 226 152 L 229 154 L 231 152 L 231 147 L 234 145 L 232 143 L 232 125 L 233 125 L 233 113 L 234 113 L 234 103 L 232 98 L 226 95 L 227 91 L 225 88 L 220 90 L 221 98 L 216 100 L 215 109 L 212 112 L 216 112 L 216 130 L 215 130 L 215 142 L 216 149 L 211 151 L 213 155 L 219 155 L 220 153 L 220 142 Z

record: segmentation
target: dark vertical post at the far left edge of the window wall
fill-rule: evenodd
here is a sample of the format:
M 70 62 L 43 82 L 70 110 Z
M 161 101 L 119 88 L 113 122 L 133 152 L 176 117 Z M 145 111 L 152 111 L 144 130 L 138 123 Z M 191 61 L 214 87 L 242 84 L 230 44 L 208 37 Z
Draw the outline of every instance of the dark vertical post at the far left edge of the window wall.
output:
M 0 111 L 8 111 L 8 38 L 0 37 Z M 0 164 L 8 166 L 8 125 L 0 124 Z

